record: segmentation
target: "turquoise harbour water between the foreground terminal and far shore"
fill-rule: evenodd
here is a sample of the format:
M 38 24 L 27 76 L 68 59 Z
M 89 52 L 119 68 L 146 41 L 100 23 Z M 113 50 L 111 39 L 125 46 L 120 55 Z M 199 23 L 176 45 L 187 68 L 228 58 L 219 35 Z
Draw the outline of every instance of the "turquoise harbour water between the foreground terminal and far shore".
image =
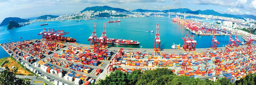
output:
M 172 44 L 180 44 L 182 47 L 185 35 L 189 37 L 193 35 L 196 40 L 196 48 L 210 48 L 212 42 L 212 35 L 195 35 L 190 33 L 180 24 L 172 21 L 171 17 L 139 17 L 139 18 L 111 18 L 112 20 L 120 20 L 121 22 L 108 23 L 109 19 L 97 20 L 64 20 L 60 21 L 46 21 L 34 22 L 30 25 L 18 27 L 16 29 L 5 30 L 7 26 L 0 27 L 0 43 L 24 41 L 29 39 L 41 39 L 38 35 L 43 29 L 63 30 L 68 32 L 65 37 L 72 37 L 76 39 L 77 43 L 90 44 L 87 39 L 93 32 L 94 23 L 96 23 L 96 34 L 100 37 L 103 32 L 104 23 L 106 23 L 107 38 L 127 39 L 140 42 L 139 46 L 116 46 L 116 47 L 132 47 L 132 48 L 154 48 L 156 26 L 159 24 L 159 35 L 161 39 L 161 49 L 170 49 Z M 187 17 L 191 18 L 191 17 Z M 199 17 L 193 17 L 199 18 Z M 200 18 L 203 19 L 203 18 Z M 48 23 L 48 25 L 40 26 Z M 148 31 L 153 30 L 154 33 Z M 19 39 L 22 37 L 22 39 Z M 235 36 L 232 36 L 233 39 Z M 240 41 L 244 41 L 241 36 L 237 36 Z M 223 47 L 229 43 L 229 36 L 216 36 L 219 41 L 218 47 Z M 8 41 L 8 39 L 12 39 Z M 0 47 L 0 58 L 9 56 L 7 52 Z

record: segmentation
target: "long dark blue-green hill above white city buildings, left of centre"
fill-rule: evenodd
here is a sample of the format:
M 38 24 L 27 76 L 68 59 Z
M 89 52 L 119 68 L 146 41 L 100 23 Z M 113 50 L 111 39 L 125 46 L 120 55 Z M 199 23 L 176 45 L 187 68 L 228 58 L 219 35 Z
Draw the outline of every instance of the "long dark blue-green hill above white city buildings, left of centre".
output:
M 129 12 L 125 9 L 120 9 L 120 8 L 112 8 L 112 7 L 108 7 L 108 6 L 95 6 L 95 7 L 87 7 L 85 9 L 83 9 L 81 11 L 81 13 L 85 12 L 87 10 L 93 10 L 94 12 L 97 12 L 97 11 L 101 12 L 101 11 L 104 11 L 104 10 L 116 10 L 116 11 L 120 11 L 120 12 Z

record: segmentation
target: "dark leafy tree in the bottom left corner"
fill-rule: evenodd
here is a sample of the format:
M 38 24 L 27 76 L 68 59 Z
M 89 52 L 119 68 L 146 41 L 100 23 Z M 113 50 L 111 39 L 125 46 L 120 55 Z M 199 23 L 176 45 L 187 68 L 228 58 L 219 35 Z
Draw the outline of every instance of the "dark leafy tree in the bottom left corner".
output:
M 30 81 L 22 78 L 16 78 L 17 69 L 11 70 L 8 67 L 0 72 L 0 85 L 30 85 Z

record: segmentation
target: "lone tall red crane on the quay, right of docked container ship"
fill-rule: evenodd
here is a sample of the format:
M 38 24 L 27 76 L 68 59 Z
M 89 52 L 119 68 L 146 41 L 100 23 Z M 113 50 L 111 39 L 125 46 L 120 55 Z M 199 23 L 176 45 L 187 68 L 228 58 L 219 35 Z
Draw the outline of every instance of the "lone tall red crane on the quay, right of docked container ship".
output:
M 160 51 L 160 36 L 159 36 L 159 24 L 157 24 L 157 32 L 155 34 L 155 45 L 154 45 L 154 50 L 155 50 L 155 55 L 158 54 L 158 51 Z

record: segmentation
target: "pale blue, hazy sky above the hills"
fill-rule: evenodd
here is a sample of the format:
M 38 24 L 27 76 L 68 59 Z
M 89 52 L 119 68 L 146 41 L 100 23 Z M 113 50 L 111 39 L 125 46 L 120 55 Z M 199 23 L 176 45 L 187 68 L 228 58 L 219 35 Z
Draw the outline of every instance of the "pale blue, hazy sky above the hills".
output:
M 7 17 L 39 17 L 70 14 L 86 7 L 109 6 L 125 10 L 211 9 L 219 13 L 253 14 L 256 0 L 0 0 L 0 22 Z

